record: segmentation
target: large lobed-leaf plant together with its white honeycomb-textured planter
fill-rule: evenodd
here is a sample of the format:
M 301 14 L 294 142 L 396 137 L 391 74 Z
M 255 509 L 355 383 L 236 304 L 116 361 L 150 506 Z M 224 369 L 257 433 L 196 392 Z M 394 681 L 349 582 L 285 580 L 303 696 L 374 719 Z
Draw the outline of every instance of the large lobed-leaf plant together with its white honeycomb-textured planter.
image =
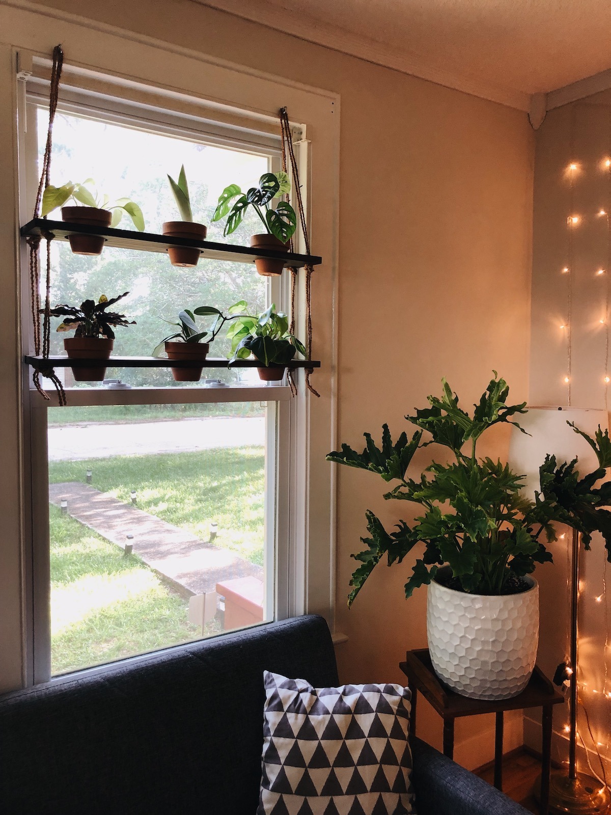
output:
M 508 405 L 508 386 L 490 381 L 473 414 L 443 381 L 442 397 L 429 396 L 430 407 L 407 420 L 419 428 L 411 439 L 402 433 L 393 444 L 384 425 L 382 447 L 365 434 L 362 453 L 342 444 L 327 460 L 367 469 L 385 482 L 398 481 L 387 499 L 419 504 L 424 513 L 408 524 L 399 521 L 387 532 L 367 510 L 370 537 L 354 557 L 359 566 L 350 585 L 349 606 L 371 571 L 385 555 L 389 566 L 402 562 L 411 549 L 424 545 L 405 585 L 406 597 L 429 585 L 427 633 L 433 667 L 442 681 L 464 696 L 511 698 L 521 693 L 534 668 L 538 644 L 538 586 L 530 576 L 536 563 L 551 562 L 541 537 L 556 540 L 553 522 L 582 533 L 589 548 L 591 532 L 603 532 L 611 552 L 611 482 L 596 487 L 611 464 L 609 434 L 586 438 L 600 468 L 579 478 L 577 459 L 557 464 L 546 456 L 539 469 L 540 491 L 532 501 L 522 494 L 523 478 L 500 460 L 477 457 L 477 442 L 493 425 L 525 413 L 526 403 Z M 430 434 L 423 441 L 424 432 Z M 522 431 L 524 432 L 524 431 Z M 433 461 L 415 481 L 407 468 L 415 452 L 429 444 L 451 452 L 451 461 Z M 466 448 L 466 449 L 465 449 Z M 609 557 L 609 556 L 608 556 Z

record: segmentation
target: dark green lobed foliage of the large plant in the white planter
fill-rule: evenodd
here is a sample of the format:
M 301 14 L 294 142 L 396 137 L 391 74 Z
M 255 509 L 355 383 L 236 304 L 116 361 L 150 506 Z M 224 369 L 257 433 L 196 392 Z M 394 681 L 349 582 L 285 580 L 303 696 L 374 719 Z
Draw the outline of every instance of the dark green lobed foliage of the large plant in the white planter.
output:
M 414 522 L 399 521 L 392 532 L 367 510 L 370 537 L 362 538 L 366 548 L 352 555 L 360 565 L 350 580 L 349 606 L 383 557 L 389 566 L 401 563 L 419 544 L 424 552 L 405 584 L 406 597 L 429 584 L 444 565 L 450 567 L 452 588 L 488 595 L 512 593 L 536 563 L 552 562 L 545 541 L 556 540 L 554 523 L 578 530 L 587 549 L 592 532 L 600 531 L 611 562 L 611 512 L 604 509 L 611 504 L 611 481 L 598 483 L 611 465 L 608 431 L 599 427 L 591 438 L 571 424 L 596 452 L 599 467 L 581 476 L 577 458 L 559 464 L 555 456 L 547 455 L 539 468 L 540 490 L 530 500 L 522 492 L 525 476 L 500 460 L 477 456 L 477 442 L 492 426 L 508 423 L 525 432 L 513 419 L 526 412 L 526 403 L 508 404 L 508 393 L 507 383 L 495 372 L 469 414 L 443 380 L 441 398 L 429 396 L 430 407 L 406 416 L 419 429 L 411 438 L 402 433 L 393 443 L 384 425 L 381 448 L 366 433 L 362 453 L 342 444 L 341 451 L 328 454 L 329 461 L 398 482 L 385 499 L 411 501 L 424 509 Z M 433 461 L 415 481 L 407 469 L 415 452 L 429 444 L 445 447 L 451 460 Z

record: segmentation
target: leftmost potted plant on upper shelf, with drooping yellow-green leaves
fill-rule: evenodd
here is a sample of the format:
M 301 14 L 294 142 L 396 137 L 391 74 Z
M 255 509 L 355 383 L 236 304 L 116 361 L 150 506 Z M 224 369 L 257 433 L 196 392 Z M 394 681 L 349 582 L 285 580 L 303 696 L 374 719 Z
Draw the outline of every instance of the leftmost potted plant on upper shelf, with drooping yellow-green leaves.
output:
M 101 199 L 95 188 L 93 178 L 87 178 L 81 184 L 68 181 L 61 187 L 49 184 L 42 194 L 42 217 L 61 207 L 62 220 L 68 223 L 82 223 L 90 227 L 117 227 L 126 212 L 134 227 L 140 232 L 144 229 L 142 209 L 130 198 L 117 198 L 111 202 L 108 196 Z M 64 206 L 67 200 L 74 201 L 74 206 Z M 98 255 L 102 253 L 105 238 L 99 235 L 68 235 L 70 247 L 75 254 Z

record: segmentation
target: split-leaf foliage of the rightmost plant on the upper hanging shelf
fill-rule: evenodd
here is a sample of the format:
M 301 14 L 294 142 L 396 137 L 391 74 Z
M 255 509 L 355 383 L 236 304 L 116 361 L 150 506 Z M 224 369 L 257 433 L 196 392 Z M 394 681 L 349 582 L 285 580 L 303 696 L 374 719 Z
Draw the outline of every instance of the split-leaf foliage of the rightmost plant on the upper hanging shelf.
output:
M 231 235 L 240 226 L 248 207 L 252 206 L 266 232 L 285 244 L 295 234 L 297 215 L 287 201 L 279 201 L 275 209 L 271 207 L 271 202 L 290 190 L 291 182 L 284 172 L 264 173 L 257 187 L 250 187 L 247 192 L 242 192 L 237 184 L 230 184 L 222 191 L 212 219 L 220 221 L 226 218 L 222 234 Z

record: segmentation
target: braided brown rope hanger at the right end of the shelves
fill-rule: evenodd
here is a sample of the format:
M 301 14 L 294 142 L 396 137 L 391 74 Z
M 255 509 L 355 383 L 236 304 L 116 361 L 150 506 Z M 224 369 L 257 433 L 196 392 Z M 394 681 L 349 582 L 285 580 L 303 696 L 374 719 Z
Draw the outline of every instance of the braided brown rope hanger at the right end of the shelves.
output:
M 301 231 L 303 233 L 303 240 L 306 244 L 306 254 L 310 254 L 310 238 L 308 236 L 308 227 L 306 224 L 306 214 L 303 208 L 303 199 L 301 198 L 301 184 L 299 183 L 299 169 L 297 167 L 297 158 L 295 151 L 292 147 L 292 134 L 291 126 L 288 121 L 288 112 L 286 108 L 279 110 L 280 128 L 282 130 L 282 169 L 287 172 L 287 155 L 288 160 L 291 162 L 292 171 L 292 186 L 297 196 L 297 212 L 299 213 L 299 220 L 301 222 Z M 291 238 L 290 245 L 291 252 L 293 250 L 293 243 Z M 297 269 L 295 267 L 288 267 L 291 272 L 291 325 L 290 332 L 295 333 L 295 306 L 297 300 Z M 307 358 L 312 359 L 312 272 L 314 267 L 310 263 L 306 263 L 304 267 L 306 271 L 306 351 Z M 314 396 L 320 396 L 319 392 L 314 389 L 310 383 L 310 376 L 314 373 L 314 368 L 306 368 L 306 388 Z M 288 382 L 291 385 L 291 392 L 293 396 L 297 394 L 297 385 L 295 384 L 295 372 L 288 372 Z

